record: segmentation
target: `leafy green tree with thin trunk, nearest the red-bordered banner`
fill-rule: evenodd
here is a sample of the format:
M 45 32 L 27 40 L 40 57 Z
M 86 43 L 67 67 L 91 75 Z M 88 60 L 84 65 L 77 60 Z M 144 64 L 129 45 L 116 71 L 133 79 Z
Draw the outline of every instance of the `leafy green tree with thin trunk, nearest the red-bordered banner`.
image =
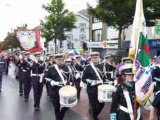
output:
M 53 40 L 57 45 L 57 40 L 60 42 L 65 40 L 65 32 L 75 27 L 75 15 L 64 9 L 62 0 L 52 0 L 50 4 L 43 5 L 43 8 L 49 15 L 45 17 L 45 21 L 41 21 L 42 37 L 46 39 L 47 43 Z M 57 46 L 55 46 L 56 52 Z

